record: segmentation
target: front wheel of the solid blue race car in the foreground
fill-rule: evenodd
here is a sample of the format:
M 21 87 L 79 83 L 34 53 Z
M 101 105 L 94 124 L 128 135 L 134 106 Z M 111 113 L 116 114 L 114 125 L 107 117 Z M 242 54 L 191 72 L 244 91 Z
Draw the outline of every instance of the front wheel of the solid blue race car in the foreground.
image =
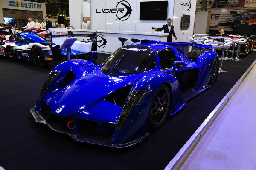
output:
M 148 130 L 154 131 L 166 120 L 170 107 L 170 91 L 167 85 L 160 85 L 152 98 L 148 111 Z

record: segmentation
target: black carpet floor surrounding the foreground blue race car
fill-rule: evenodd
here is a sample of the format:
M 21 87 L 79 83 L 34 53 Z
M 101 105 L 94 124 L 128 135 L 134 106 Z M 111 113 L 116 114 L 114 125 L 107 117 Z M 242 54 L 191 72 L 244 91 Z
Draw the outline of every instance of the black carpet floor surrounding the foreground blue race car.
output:
M 109 55 L 99 55 L 103 62 Z M 116 149 L 77 142 L 33 119 L 51 66 L 0 58 L 0 166 L 6 170 L 163 170 L 256 59 L 224 61 L 218 81 L 187 102 L 163 127 L 132 147 Z

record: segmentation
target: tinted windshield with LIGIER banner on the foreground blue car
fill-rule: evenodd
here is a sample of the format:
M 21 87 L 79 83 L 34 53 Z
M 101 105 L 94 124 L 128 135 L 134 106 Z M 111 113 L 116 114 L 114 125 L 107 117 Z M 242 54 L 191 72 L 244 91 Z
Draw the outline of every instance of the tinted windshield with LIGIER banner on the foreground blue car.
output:
M 101 66 L 104 74 L 138 74 L 156 67 L 154 51 L 142 45 L 125 45 L 114 52 Z

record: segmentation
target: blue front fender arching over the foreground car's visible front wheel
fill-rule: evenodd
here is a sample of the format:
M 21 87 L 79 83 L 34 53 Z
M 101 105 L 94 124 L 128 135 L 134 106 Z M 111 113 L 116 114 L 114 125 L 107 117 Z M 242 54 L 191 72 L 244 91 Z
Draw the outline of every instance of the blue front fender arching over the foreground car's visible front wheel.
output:
M 135 90 L 150 89 L 150 91 L 139 105 L 134 106 L 124 127 L 114 131 L 111 144 L 126 144 L 139 139 L 148 133 L 148 111 L 151 100 L 157 88 L 163 83 L 166 83 L 170 88 L 173 101 L 172 107 L 182 101 L 180 90 L 175 88 L 175 85 L 178 83 L 177 79 L 173 75 L 156 73 L 147 74 L 138 78 L 137 81 L 133 83 L 133 88 Z M 175 99 L 177 94 L 180 96 Z

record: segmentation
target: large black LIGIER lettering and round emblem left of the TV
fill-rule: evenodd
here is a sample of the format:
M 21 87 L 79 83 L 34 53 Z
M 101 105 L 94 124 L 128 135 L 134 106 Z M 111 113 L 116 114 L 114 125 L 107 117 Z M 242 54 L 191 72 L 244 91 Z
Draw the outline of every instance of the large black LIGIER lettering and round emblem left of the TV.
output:
M 132 11 L 131 5 L 126 0 L 121 0 L 120 2 L 116 2 L 116 3 L 117 3 L 116 8 L 104 8 L 102 10 L 96 9 L 96 13 L 115 13 L 117 17 L 116 20 L 121 20 L 121 21 L 127 20 L 131 15 L 131 11 Z M 117 8 L 119 4 L 122 5 L 122 8 Z M 121 17 L 117 16 L 118 13 L 122 13 Z

